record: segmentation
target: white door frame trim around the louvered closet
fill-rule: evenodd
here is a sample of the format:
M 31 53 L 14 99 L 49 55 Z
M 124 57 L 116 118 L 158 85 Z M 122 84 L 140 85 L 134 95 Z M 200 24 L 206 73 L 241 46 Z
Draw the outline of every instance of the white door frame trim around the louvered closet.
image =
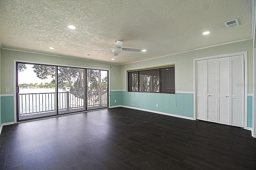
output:
M 194 63 L 193 63 L 193 67 L 194 67 L 194 120 L 196 120 L 196 61 L 217 59 L 217 58 L 222 58 L 222 57 L 231 57 L 231 56 L 236 56 L 236 55 L 244 55 L 244 129 L 247 129 L 247 94 L 248 94 L 248 90 L 247 90 L 248 89 L 247 88 L 247 84 L 248 84 L 247 51 L 194 59 Z

